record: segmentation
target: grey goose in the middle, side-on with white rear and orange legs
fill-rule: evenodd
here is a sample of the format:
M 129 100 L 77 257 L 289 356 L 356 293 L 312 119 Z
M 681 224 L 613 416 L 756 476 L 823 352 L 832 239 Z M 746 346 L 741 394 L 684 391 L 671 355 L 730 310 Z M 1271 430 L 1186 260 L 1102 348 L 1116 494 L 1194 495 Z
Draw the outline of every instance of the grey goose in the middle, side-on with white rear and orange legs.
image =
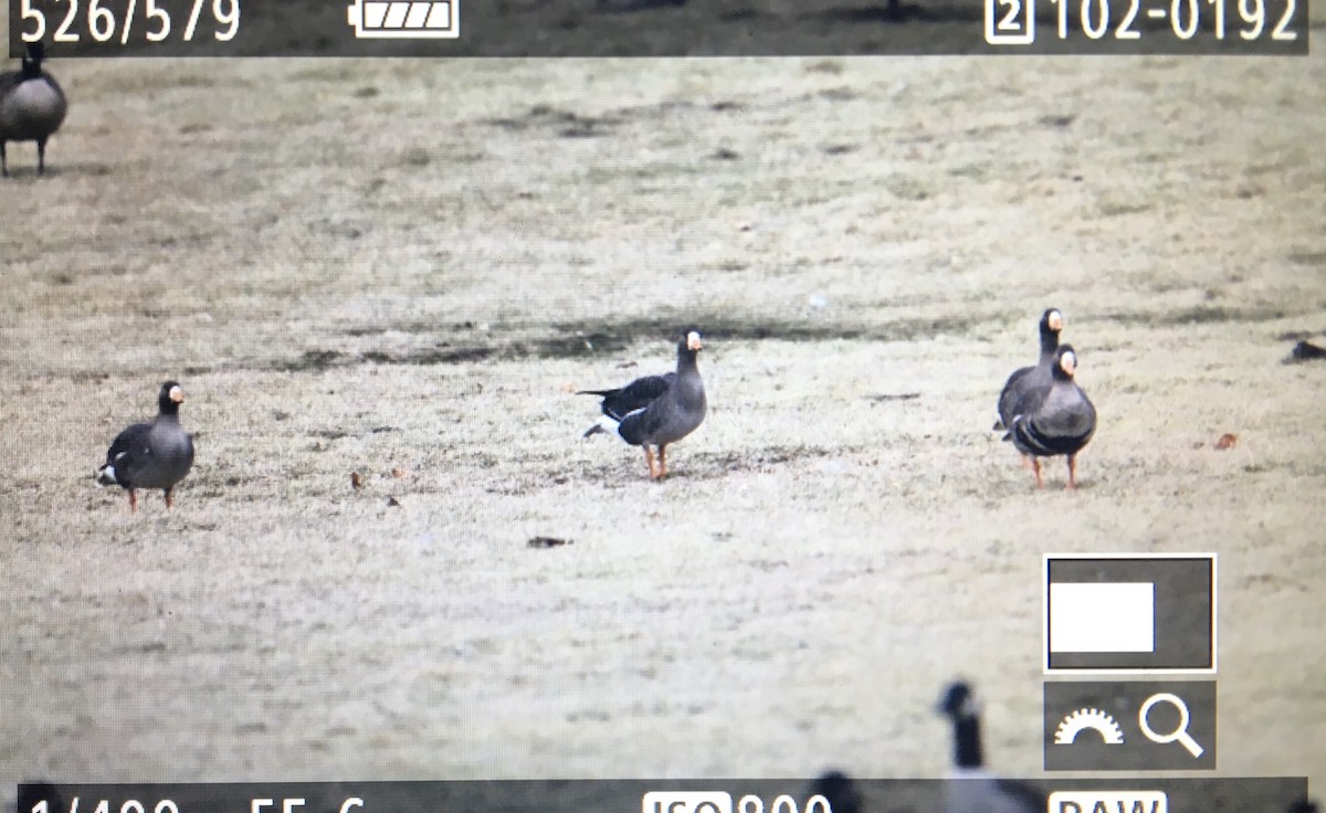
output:
M 585 436 L 611 432 L 631 446 L 644 447 L 650 477 L 667 475 L 667 446 L 686 438 L 704 422 L 704 379 L 696 354 L 700 334 L 691 330 L 676 345 L 676 373 L 638 378 L 617 390 L 582 390 L 603 399 L 603 416 Z M 658 468 L 652 447 L 658 447 Z

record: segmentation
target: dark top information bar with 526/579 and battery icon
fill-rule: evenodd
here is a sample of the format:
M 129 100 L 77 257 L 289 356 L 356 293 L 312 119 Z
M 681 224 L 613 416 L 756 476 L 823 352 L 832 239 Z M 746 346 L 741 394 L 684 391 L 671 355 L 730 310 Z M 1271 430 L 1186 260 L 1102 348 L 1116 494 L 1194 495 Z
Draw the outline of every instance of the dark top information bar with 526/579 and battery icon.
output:
M 1307 0 L 8 0 L 9 56 L 683 57 L 1309 50 Z

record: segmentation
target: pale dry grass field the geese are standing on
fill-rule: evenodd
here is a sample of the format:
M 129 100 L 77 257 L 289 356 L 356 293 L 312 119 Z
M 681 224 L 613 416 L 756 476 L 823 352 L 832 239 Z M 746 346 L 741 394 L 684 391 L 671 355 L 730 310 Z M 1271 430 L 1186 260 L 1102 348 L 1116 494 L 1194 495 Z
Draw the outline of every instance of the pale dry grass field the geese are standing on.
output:
M 1042 553 L 1152 550 L 1221 556 L 1221 773 L 1326 782 L 1319 54 L 50 70 L 4 784 L 941 776 L 956 675 L 1037 775 Z M 989 431 L 1049 305 L 1075 493 Z M 572 390 L 683 325 L 711 410 L 651 483 Z M 198 462 L 130 515 L 91 473 L 171 377 Z

